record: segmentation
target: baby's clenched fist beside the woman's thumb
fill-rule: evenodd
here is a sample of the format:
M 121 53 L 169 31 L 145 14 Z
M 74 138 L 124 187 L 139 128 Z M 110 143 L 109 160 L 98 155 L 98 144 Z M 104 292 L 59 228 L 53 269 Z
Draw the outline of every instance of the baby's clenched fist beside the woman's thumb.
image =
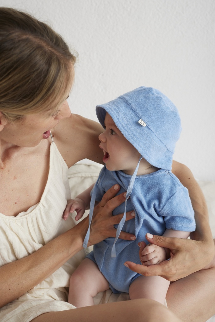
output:
M 142 255 L 141 260 L 145 266 L 159 264 L 167 259 L 165 249 L 153 244 L 146 245 L 142 251 Z

